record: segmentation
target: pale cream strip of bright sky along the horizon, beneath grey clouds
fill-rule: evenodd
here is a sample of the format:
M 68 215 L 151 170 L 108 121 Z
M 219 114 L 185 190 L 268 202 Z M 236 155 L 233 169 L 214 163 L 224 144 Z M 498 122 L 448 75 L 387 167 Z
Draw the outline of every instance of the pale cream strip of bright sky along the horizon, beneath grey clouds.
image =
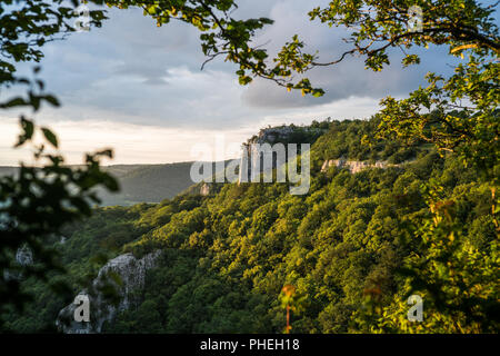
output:
M 328 116 L 332 119 L 367 118 L 376 110 L 376 100 L 352 97 L 301 111 L 291 108 L 251 117 L 243 125 L 232 128 L 168 128 L 92 119 L 46 123 L 58 135 L 60 151 L 67 164 L 81 164 L 84 152 L 104 148 L 114 150 L 114 159 L 107 164 L 167 164 L 197 160 L 198 157 L 191 156 L 191 150 L 199 144 L 212 147 L 216 151 L 216 142 L 220 136 L 229 149 L 230 146 L 241 145 L 268 125 L 310 123 L 313 119 Z M 29 149 L 12 148 L 19 132 L 17 119 L 0 118 L 0 166 L 18 165 L 20 161 L 34 164 Z M 228 151 L 223 157 L 213 156 L 213 159 L 222 158 L 234 158 L 234 155 Z

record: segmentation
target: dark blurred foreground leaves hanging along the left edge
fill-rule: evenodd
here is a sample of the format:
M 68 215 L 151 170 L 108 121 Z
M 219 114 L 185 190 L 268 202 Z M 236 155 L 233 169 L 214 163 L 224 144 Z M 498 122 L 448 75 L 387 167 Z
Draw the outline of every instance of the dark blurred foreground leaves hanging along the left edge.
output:
M 57 98 L 44 91 L 43 81 L 20 76 L 17 65 L 39 62 L 43 57 L 41 48 L 47 42 L 63 39 L 72 32 L 77 6 L 76 0 L 2 1 L 0 89 L 18 92 L 13 89 L 20 87 L 26 93 L 3 96 L 0 109 L 24 108 L 36 113 L 43 102 L 59 106 Z M 91 11 L 90 16 L 96 26 L 104 18 L 102 11 Z M 39 71 L 40 67 L 33 68 L 34 76 Z M 21 164 L 18 172 L 0 178 L 0 327 L 12 305 L 22 309 L 32 297 L 23 288 L 27 278 L 47 280 L 48 271 L 61 268 L 54 251 L 47 247 L 48 241 L 57 238 L 64 225 L 90 215 L 91 206 L 99 202 L 93 188 L 102 185 L 118 190 L 117 181 L 99 166 L 102 157 L 112 157 L 111 150 L 88 154 L 82 167 L 69 168 L 57 151 L 59 140 L 52 130 L 36 126 L 33 119 L 24 115 L 20 117 L 20 126 L 16 147 L 30 145 L 36 167 Z M 37 132 L 43 138 L 39 145 L 33 140 Z M 47 145 L 56 151 L 47 152 Z M 32 265 L 21 266 L 16 261 L 20 249 L 32 254 Z

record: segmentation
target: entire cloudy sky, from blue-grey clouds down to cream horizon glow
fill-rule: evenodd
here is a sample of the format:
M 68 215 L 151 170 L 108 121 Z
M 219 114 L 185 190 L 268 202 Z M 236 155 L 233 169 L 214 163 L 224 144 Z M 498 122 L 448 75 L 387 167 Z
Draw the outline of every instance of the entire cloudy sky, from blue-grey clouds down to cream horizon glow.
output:
M 327 2 L 244 0 L 234 16 L 276 21 L 256 39 L 271 53 L 299 33 L 308 50 L 319 50 L 327 60 L 346 49 L 346 32 L 310 22 L 307 16 Z M 420 66 L 409 69 L 401 68 L 396 53 L 393 66 L 379 73 L 348 58 L 334 68 L 311 71 L 313 85 L 327 93 L 302 98 L 263 80 L 241 87 L 236 66 L 222 59 L 201 71 L 199 32 L 188 24 L 173 21 L 158 28 L 139 9 L 110 10 L 108 17 L 100 29 L 44 47 L 41 77 L 62 107 L 46 107 L 34 118 L 54 129 L 71 164 L 81 162 L 84 151 L 104 147 L 116 151 L 107 164 L 194 160 L 197 144 L 211 145 L 220 137 L 239 144 L 268 125 L 368 118 L 380 98 L 402 97 L 424 83 L 427 71 L 447 71 L 450 63 L 444 49 L 433 48 Z M 29 152 L 11 148 L 19 131 L 16 112 L 1 115 L 0 165 L 30 161 Z

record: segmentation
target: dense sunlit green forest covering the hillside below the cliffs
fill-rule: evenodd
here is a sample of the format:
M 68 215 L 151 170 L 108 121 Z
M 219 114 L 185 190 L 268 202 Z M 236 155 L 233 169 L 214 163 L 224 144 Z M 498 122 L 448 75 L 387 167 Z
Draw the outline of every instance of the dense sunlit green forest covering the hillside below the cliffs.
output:
M 52 240 L 68 274 L 49 283 L 72 290 L 29 280 L 34 299 L 23 315 L 12 309 L 6 329 L 53 328 L 109 258 L 161 249 L 146 288 L 104 332 L 281 333 L 284 285 L 297 288 L 291 333 L 498 332 L 491 184 L 453 154 L 374 139 L 379 123 L 322 122 L 304 196 L 288 184 L 220 184 L 209 196 L 96 209 L 64 228 L 64 244 Z M 403 165 L 321 171 L 336 158 Z M 423 297 L 422 323 L 406 318 L 411 294 Z

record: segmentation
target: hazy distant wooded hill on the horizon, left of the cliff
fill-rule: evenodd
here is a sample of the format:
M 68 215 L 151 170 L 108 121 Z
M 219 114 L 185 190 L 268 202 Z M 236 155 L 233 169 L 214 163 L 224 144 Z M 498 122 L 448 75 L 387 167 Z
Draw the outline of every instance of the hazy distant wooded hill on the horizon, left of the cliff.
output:
M 116 165 L 103 169 L 113 175 L 120 191 L 110 194 L 99 189 L 102 206 L 130 206 L 138 202 L 160 202 L 173 198 L 194 182 L 190 177 L 192 162 L 166 165 Z M 0 176 L 12 175 L 17 167 L 0 167 Z

